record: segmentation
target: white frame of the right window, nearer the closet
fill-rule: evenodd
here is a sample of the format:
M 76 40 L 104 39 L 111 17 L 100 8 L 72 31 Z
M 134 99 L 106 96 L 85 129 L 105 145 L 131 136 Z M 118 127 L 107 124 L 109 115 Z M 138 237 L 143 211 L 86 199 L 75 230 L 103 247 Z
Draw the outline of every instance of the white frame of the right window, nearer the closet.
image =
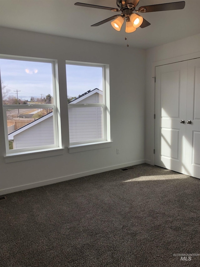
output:
M 102 81 L 103 81 L 103 103 L 84 103 L 84 104 L 68 104 L 68 110 L 70 108 L 87 108 L 87 107 L 102 107 L 103 110 L 103 138 L 96 138 L 84 141 L 73 141 L 69 143 L 70 148 L 78 148 L 87 145 L 97 145 L 105 142 L 111 142 L 110 140 L 110 88 L 109 88 L 109 65 L 108 64 L 97 64 L 88 62 L 75 62 L 66 60 L 66 65 L 77 65 L 77 66 L 89 66 L 89 67 L 100 67 L 102 68 Z M 87 150 L 87 149 L 84 149 Z M 82 150 L 80 150 L 82 151 Z M 73 152 L 73 151 L 71 151 Z M 71 153 L 70 152 L 70 153 Z

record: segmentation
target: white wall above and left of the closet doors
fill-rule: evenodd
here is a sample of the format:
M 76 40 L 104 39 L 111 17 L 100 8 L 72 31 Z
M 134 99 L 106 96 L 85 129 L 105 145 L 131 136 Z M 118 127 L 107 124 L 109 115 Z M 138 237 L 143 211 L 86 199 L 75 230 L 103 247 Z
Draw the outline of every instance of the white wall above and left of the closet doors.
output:
M 200 34 L 146 50 L 145 159 L 149 164 L 154 164 L 154 63 L 191 59 L 197 52 L 200 52 Z

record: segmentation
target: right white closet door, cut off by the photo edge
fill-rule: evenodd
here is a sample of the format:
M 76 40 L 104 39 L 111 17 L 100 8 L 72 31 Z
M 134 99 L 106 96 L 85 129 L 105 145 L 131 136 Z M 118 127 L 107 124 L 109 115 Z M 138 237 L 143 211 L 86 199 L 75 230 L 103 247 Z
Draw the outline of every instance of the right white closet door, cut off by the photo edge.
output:
M 200 58 L 188 61 L 185 173 L 200 178 Z

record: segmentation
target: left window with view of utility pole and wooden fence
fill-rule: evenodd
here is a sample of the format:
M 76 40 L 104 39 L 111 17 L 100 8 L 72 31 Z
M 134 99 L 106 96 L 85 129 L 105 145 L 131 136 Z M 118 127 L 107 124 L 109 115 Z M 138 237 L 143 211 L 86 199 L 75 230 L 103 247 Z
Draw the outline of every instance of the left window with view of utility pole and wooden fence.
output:
M 59 147 L 54 61 L 1 57 L 6 153 Z

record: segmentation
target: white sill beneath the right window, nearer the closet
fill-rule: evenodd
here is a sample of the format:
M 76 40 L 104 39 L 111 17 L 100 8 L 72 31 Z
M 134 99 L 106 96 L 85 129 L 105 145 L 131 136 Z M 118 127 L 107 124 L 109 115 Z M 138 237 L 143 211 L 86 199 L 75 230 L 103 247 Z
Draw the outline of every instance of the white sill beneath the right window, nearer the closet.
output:
M 69 153 L 88 151 L 100 148 L 111 147 L 113 141 L 94 142 L 88 144 L 71 145 L 68 147 Z

